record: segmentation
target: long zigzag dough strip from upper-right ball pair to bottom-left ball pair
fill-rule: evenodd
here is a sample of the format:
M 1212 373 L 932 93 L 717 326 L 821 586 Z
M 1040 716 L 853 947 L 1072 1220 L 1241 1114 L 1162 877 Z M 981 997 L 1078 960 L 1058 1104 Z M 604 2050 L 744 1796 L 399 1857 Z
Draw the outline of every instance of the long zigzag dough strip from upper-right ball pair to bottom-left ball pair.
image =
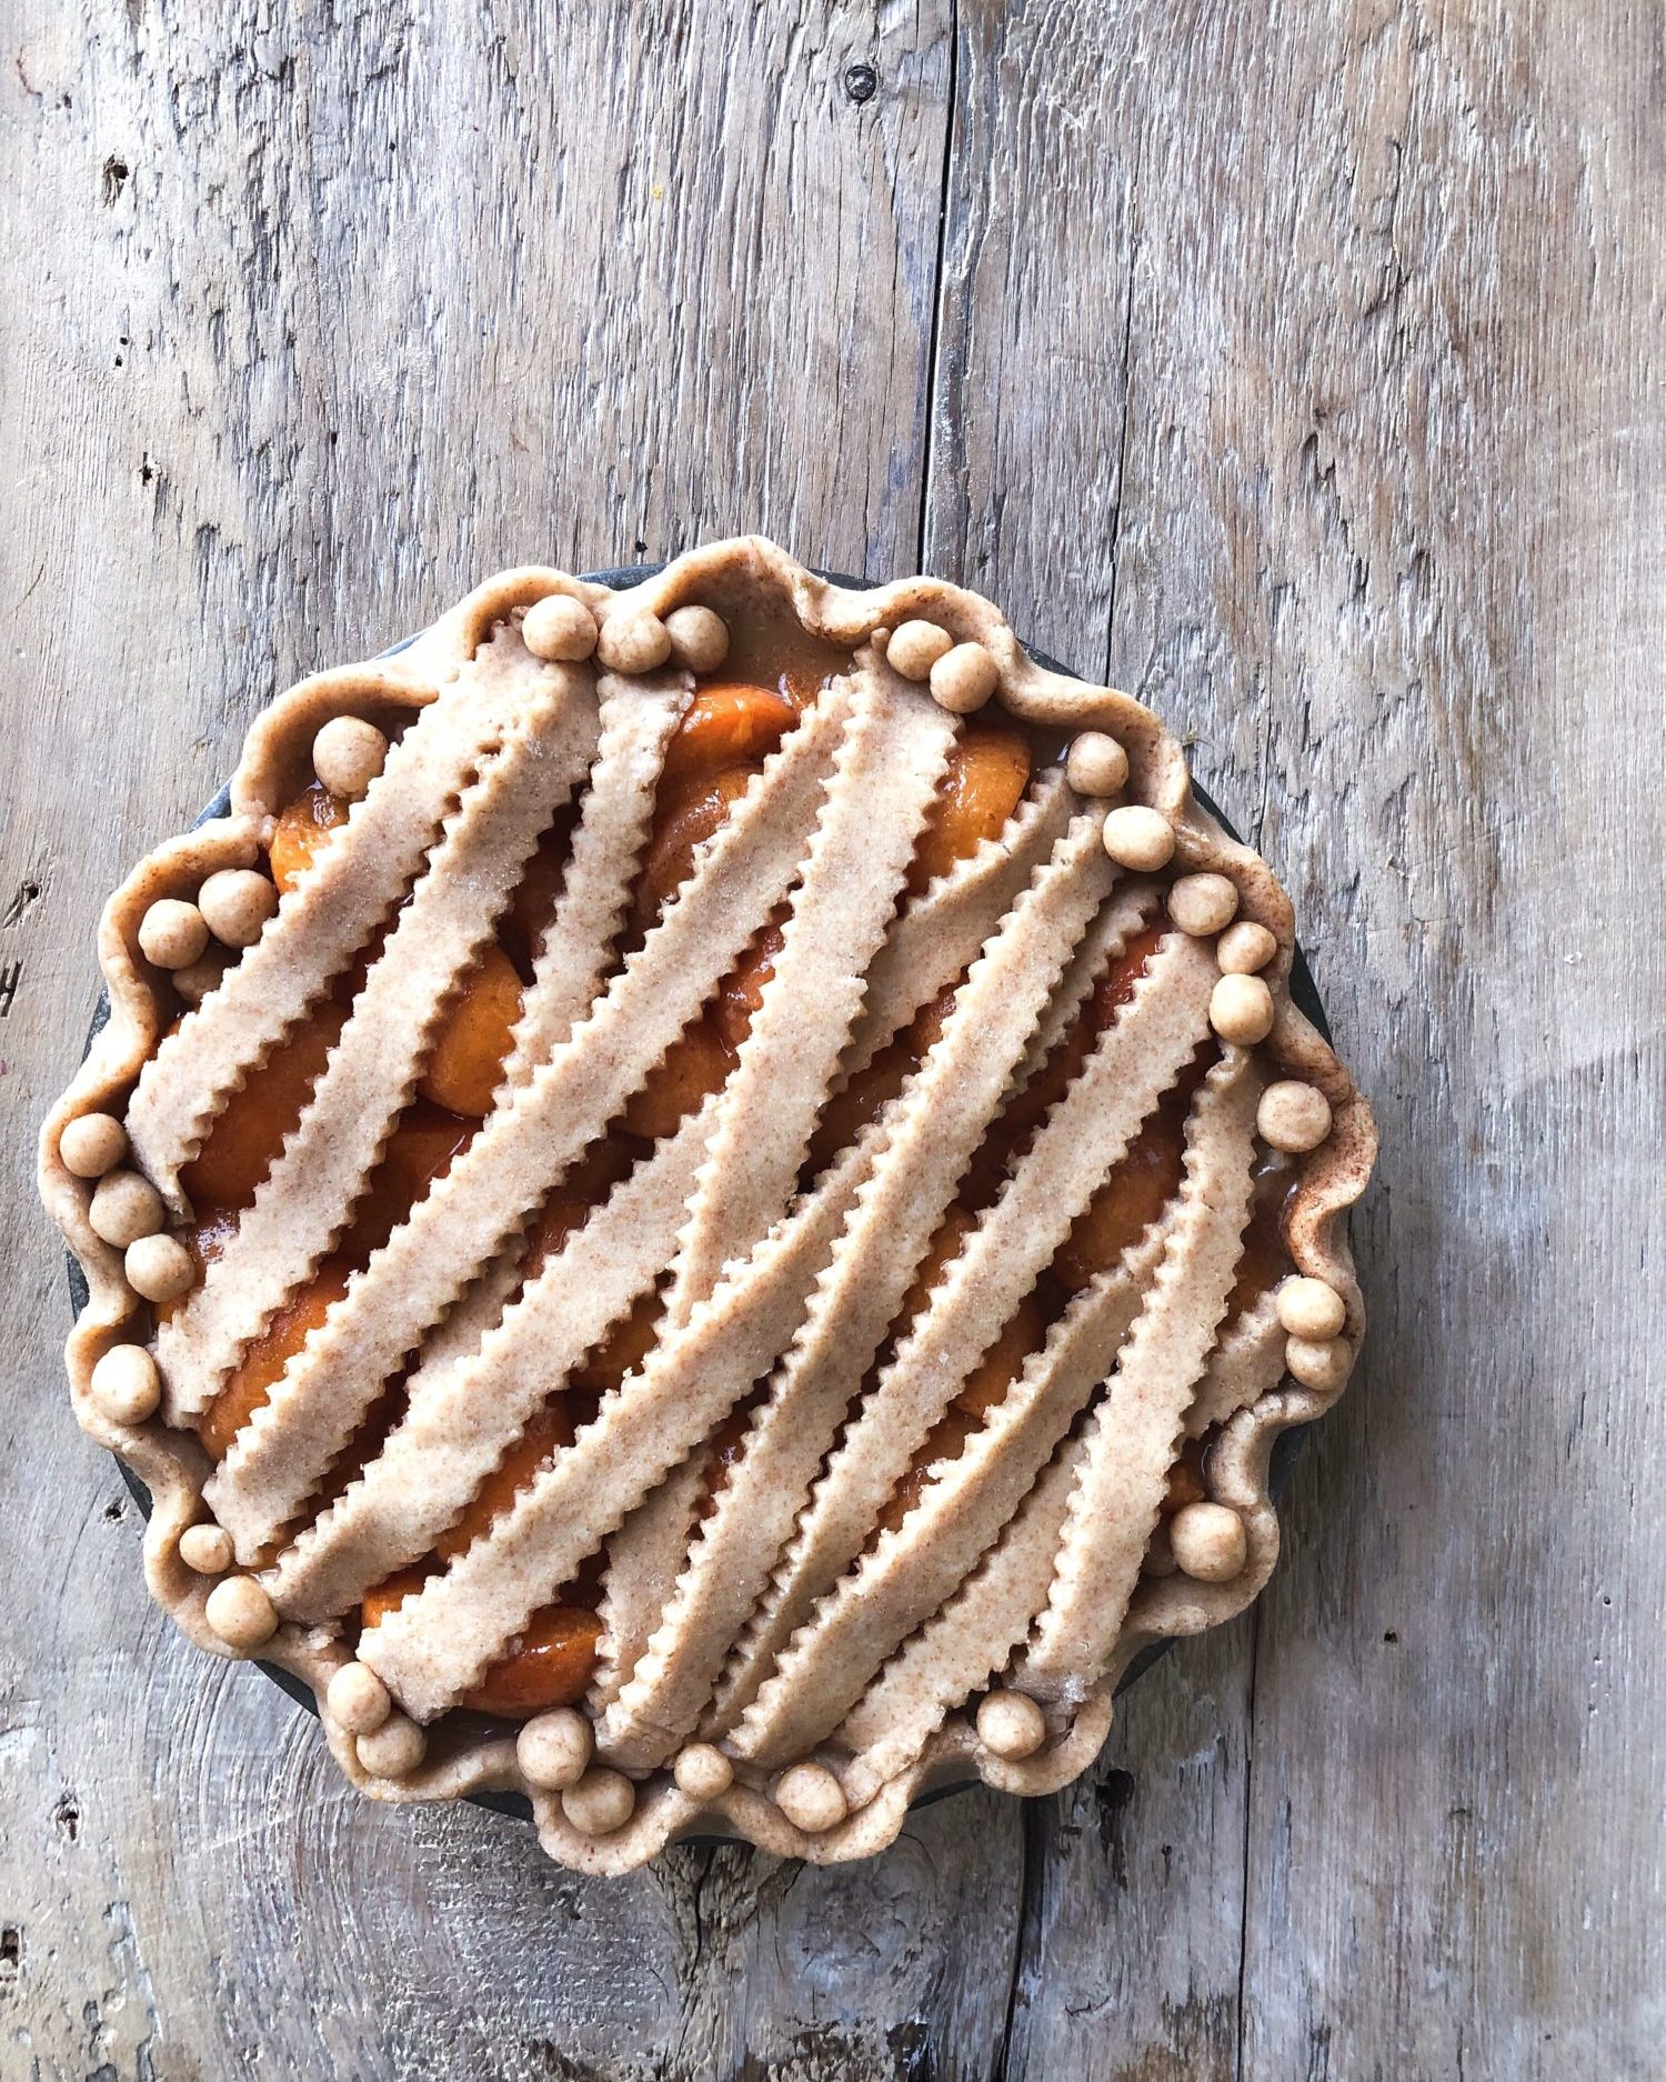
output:
M 598 1734 L 604 1747 L 629 1745 L 637 1755 L 668 1747 L 706 1705 L 850 1395 L 1110 879 L 1100 814 L 1087 812 L 968 970 L 943 1037 L 898 1099 L 889 1147 L 702 1528 L 673 1607 Z

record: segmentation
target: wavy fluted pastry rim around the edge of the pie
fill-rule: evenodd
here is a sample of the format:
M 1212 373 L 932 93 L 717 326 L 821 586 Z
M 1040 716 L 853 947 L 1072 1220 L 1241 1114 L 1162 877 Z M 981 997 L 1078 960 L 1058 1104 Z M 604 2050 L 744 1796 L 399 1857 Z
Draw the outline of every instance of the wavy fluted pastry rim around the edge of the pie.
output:
M 248 733 L 231 781 L 229 814 L 148 854 L 110 897 L 100 920 L 98 956 L 110 1018 L 42 1126 L 40 1185 L 48 1212 L 87 1278 L 87 1305 L 67 1343 L 77 1420 L 150 1487 L 154 1509 L 144 1545 L 146 1578 L 152 1595 L 198 1647 L 229 1653 L 204 1620 L 210 1584 L 179 1559 L 179 1534 L 198 1516 L 208 1459 L 192 1434 L 167 1430 L 160 1422 L 137 1428 L 117 1424 L 92 1399 L 92 1368 L 119 1341 L 133 1297 L 121 1276 L 121 1253 L 104 1245 L 87 1224 L 92 1185 L 75 1178 L 58 1158 L 65 1124 L 90 1112 L 119 1114 L 125 1091 L 158 1043 L 165 1010 L 137 951 L 144 912 L 156 897 L 185 883 L 196 885 L 217 868 L 248 866 L 258 858 L 267 818 L 308 777 L 308 747 L 327 720 L 337 714 L 377 720 L 425 706 L 514 608 L 550 591 L 566 591 L 600 616 L 635 606 L 662 616 L 685 602 L 710 598 L 712 585 L 727 589 L 735 583 L 752 583 L 779 595 L 810 635 L 841 648 L 856 648 L 875 629 L 895 627 L 912 616 L 939 623 L 956 641 L 979 641 L 991 652 L 1002 675 L 1000 702 L 1014 716 L 1068 731 L 1104 729 L 1127 747 L 1127 799 L 1160 810 L 1172 824 L 1175 872 L 1227 874 L 1239 891 L 1239 916 L 1268 926 L 1277 939 L 1279 951 L 1264 970 L 1274 991 L 1277 1022 L 1262 1049 L 1281 1074 L 1318 1087 L 1333 1112 L 1329 1139 L 1302 1162 L 1299 1193 L 1289 1216 L 1289 1253 L 1297 1272 L 1341 1293 L 1347 1307 L 1343 1335 L 1358 1347 L 1364 1314 L 1347 1253 L 1345 1216 L 1370 1176 L 1370 1110 L 1333 1049 L 1289 1001 L 1289 899 L 1266 862 L 1229 839 L 1195 802 L 1179 741 L 1147 708 L 1116 689 L 1089 687 L 1037 664 L 1004 616 L 977 593 L 925 577 L 879 587 L 837 585 L 758 537 L 689 552 L 625 591 L 544 566 L 506 570 L 479 585 L 406 650 L 312 675 L 279 695 Z M 1279 1520 L 1268 1495 L 1272 1447 L 1283 1430 L 1320 1416 L 1337 1393 L 1302 1389 L 1285 1376 L 1227 1422 L 1214 1447 L 1210 1480 L 1214 1493 L 1243 1516 L 1250 1537 L 1245 1570 L 1227 1584 L 1202 1584 L 1183 1576 L 1143 1580 L 1129 1607 L 1114 1664 L 1045 1749 L 1016 1763 L 1004 1761 L 985 1749 L 964 1713 L 950 1716 L 908 1770 L 887 1780 L 873 1801 L 827 1834 L 798 1830 L 773 1801 L 743 1782 L 702 1805 L 658 1774 L 631 1822 L 616 1834 L 594 1838 L 564 1820 L 558 1797 L 527 1784 L 508 1736 L 466 1736 L 450 1749 L 435 1743 L 425 1766 L 402 1782 L 369 1778 L 352 1736 L 321 1716 L 329 1745 L 342 1770 L 377 1799 L 523 1793 L 533 1805 L 546 1851 L 581 1872 L 625 1872 L 689 1832 L 731 1834 L 816 1863 L 862 1857 L 895 1836 L 912 1799 L 948 1780 L 964 1780 L 968 1770 L 1000 1791 L 1052 1793 L 1097 1753 L 1110 1726 L 1116 1682 L 1135 1655 L 1160 1639 L 1214 1626 L 1260 1593 L 1279 1551 Z M 319 1703 L 329 1676 L 348 1659 L 348 1651 L 325 1630 L 298 1626 L 285 1626 L 260 1653 L 308 1684 Z

